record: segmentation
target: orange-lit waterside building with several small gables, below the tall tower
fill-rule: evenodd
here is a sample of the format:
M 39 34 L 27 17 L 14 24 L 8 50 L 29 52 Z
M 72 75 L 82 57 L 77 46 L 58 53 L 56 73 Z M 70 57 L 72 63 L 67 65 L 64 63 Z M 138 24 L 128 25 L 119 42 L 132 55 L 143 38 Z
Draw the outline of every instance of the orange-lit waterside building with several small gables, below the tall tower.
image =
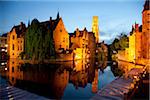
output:
M 70 49 L 73 50 L 75 59 L 93 56 L 96 50 L 94 33 L 88 32 L 86 28 L 83 31 L 77 28 L 70 34 Z

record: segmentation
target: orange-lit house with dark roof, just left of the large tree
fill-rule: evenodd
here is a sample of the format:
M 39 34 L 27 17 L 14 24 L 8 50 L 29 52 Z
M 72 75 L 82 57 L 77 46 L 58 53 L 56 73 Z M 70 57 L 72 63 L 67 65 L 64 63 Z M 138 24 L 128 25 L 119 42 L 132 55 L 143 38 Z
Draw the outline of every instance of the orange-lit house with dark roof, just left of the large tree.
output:
M 24 51 L 24 34 L 26 26 L 22 22 L 18 26 L 14 26 L 8 32 L 8 55 L 10 58 L 17 58 L 21 52 Z

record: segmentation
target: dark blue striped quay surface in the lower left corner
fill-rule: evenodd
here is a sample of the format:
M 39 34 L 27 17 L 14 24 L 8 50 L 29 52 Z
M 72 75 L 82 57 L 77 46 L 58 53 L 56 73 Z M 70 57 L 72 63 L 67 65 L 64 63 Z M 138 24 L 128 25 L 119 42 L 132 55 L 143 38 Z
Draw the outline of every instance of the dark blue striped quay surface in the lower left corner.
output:
M 23 89 L 10 86 L 10 84 L 0 76 L 0 100 L 47 100 L 43 96 L 36 95 Z

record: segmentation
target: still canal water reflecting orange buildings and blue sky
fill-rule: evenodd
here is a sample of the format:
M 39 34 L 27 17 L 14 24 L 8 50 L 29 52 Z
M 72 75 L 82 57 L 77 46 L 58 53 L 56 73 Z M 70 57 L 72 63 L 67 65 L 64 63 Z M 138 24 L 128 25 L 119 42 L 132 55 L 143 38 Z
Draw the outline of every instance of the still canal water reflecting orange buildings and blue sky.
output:
M 34 65 L 10 59 L 0 66 L 0 77 L 14 87 L 50 99 L 90 99 L 122 75 L 116 66 L 116 62 L 92 59 Z

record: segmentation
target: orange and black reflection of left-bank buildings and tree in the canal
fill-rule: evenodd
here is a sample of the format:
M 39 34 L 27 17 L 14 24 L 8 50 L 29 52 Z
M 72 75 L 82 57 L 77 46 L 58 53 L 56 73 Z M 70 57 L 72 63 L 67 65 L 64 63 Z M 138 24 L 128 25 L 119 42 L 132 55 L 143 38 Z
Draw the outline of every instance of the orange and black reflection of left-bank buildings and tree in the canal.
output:
M 105 62 L 106 63 L 106 62 Z M 98 91 L 98 65 L 95 59 L 57 64 L 22 64 L 17 59 L 7 62 L 7 78 L 11 85 L 52 99 L 60 99 L 68 84 Z M 105 64 L 104 64 L 105 65 Z M 106 66 L 103 66 L 105 68 Z

